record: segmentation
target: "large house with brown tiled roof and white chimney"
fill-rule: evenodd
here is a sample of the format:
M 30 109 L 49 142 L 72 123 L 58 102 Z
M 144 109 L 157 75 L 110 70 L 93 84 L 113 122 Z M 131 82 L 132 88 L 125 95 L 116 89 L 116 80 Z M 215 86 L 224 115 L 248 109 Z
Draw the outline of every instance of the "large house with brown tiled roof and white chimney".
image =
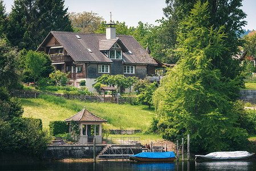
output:
M 113 22 L 107 23 L 106 34 L 51 31 L 36 51 L 50 55 L 55 70 L 70 72 L 70 85 L 79 87 L 86 80 L 91 92 L 102 74 L 144 79 L 158 65 L 133 36 L 116 35 Z

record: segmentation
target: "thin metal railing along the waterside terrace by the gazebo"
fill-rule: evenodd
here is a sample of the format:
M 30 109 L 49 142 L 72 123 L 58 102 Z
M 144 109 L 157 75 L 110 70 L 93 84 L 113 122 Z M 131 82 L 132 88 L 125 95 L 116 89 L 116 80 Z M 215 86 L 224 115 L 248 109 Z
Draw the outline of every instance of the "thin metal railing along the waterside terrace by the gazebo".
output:
M 80 140 L 83 143 L 80 143 Z M 94 137 L 54 137 L 51 141 L 52 145 L 90 145 L 94 144 Z M 101 137 L 101 142 L 96 144 L 109 144 L 109 145 L 140 145 L 140 137 Z

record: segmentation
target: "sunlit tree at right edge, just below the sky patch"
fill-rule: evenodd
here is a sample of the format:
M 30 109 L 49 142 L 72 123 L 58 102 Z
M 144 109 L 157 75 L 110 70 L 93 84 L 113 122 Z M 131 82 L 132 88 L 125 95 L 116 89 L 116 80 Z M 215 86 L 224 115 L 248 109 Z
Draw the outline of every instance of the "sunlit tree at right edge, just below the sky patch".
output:
M 247 56 L 251 56 L 256 62 L 256 31 L 249 32 L 248 35 L 244 37 L 245 39 L 245 50 L 247 51 Z M 256 71 L 256 66 L 255 66 Z

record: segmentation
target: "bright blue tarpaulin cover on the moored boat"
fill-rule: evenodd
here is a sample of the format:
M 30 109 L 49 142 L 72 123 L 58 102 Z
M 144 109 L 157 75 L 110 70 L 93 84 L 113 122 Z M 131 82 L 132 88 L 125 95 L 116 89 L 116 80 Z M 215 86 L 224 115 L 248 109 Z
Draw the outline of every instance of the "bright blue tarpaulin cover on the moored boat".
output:
M 130 156 L 131 157 L 131 156 Z M 132 157 L 142 158 L 172 158 L 175 157 L 174 152 L 141 152 L 139 154 L 132 155 Z

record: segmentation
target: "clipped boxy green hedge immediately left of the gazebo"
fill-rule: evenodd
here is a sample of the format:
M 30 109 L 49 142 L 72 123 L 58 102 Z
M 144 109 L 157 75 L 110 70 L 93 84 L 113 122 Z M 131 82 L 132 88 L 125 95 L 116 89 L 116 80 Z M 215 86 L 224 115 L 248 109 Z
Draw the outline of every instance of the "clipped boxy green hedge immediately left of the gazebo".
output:
M 52 136 L 68 133 L 68 125 L 65 121 L 50 121 L 49 127 Z

